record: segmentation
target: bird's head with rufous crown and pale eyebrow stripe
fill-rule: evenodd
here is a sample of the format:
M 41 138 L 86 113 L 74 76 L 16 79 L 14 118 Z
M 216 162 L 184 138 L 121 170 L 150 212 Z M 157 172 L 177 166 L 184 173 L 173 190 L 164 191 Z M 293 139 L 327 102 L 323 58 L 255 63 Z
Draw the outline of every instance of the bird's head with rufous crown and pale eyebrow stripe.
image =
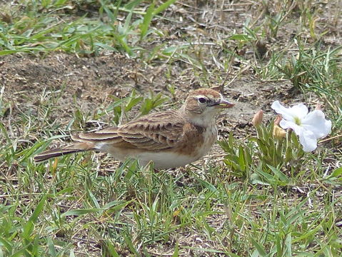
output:
M 197 89 L 192 91 L 181 110 L 186 118 L 199 126 L 206 126 L 213 122 L 216 114 L 222 109 L 233 107 L 223 96 L 213 89 Z

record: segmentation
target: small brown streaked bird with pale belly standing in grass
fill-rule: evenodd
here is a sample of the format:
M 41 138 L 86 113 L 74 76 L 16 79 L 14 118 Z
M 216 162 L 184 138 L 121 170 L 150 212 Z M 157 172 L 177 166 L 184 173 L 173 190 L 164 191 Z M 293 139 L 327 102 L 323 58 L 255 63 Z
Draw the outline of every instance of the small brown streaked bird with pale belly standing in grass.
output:
M 141 166 L 153 161 L 158 170 L 186 166 L 208 153 L 217 140 L 218 113 L 234 105 L 214 89 L 196 89 L 178 110 L 147 114 L 116 127 L 73 135 L 75 143 L 39 153 L 34 161 L 100 151 L 120 161 L 136 158 Z

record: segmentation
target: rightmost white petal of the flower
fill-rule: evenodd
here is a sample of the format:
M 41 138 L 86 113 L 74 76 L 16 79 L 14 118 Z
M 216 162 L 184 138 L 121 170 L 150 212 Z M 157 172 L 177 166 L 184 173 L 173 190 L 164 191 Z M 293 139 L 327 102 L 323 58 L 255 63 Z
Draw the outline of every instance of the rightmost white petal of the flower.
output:
M 331 121 L 325 119 L 323 111 L 315 110 L 308 114 L 302 121 L 304 129 L 313 132 L 316 138 L 321 138 L 331 132 Z

